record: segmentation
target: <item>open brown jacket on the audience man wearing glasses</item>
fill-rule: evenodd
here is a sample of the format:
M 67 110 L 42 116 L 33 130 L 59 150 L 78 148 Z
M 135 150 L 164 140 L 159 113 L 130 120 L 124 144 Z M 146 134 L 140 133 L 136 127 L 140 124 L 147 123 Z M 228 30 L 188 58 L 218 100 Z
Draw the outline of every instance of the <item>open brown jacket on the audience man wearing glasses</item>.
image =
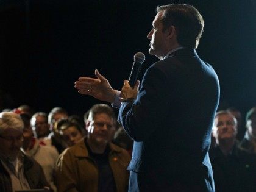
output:
M 109 163 L 116 183 L 116 191 L 126 191 L 129 172 L 126 170 L 130 155 L 122 148 L 110 143 Z M 57 190 L 62 191 L 98 191 L 98 169 L 88 155 L 84 140 L 66 149 L 57 160 Z

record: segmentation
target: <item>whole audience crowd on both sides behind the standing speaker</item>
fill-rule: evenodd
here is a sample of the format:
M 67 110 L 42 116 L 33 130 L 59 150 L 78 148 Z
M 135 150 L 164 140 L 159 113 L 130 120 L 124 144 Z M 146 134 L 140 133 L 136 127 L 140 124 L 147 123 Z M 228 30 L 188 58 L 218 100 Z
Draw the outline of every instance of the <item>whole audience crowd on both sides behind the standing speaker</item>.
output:
M 6 109 L 0 113 L 0 191 L 127 191 L 132 147 L 106 104 L 83 117 L 62 107 Z M 209 154 L 216 191 L 256 191 L 256 107 L 244 123 L 236 108 L 217 112 Z

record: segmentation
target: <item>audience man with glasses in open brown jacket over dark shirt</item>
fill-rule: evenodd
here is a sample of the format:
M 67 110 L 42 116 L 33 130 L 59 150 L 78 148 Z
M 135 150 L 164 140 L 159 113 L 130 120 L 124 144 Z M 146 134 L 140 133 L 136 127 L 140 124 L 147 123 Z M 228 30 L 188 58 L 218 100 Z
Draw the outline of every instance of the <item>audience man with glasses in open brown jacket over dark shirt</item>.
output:
M 66 149 L 57 162 L 57 188 L 62 191 L 126 191 L 130 155 L 110 141 L 115 113 L 106 104 L 90 109 L 87 138 Z

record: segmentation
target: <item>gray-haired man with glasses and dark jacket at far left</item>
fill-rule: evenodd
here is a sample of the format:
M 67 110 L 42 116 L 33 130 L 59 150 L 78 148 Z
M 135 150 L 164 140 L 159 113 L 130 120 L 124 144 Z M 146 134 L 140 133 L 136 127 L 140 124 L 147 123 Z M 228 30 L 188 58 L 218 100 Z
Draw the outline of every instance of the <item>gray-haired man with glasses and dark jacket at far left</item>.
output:
M 0 191 L 49 188 L 41 166 L 20 151 L 23 128 L 18 114 L 0 113 Z

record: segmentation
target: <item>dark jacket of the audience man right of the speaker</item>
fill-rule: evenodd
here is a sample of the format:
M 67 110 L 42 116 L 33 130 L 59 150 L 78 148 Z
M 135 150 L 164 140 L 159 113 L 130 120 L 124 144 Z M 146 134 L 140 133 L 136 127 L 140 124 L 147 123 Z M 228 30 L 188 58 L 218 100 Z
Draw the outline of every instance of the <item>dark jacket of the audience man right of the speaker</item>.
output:
M 256 191 L 256 155 L 236 143 L 225 156 L 219 146 L 210 149 L 215 189 L 218 192 Z

